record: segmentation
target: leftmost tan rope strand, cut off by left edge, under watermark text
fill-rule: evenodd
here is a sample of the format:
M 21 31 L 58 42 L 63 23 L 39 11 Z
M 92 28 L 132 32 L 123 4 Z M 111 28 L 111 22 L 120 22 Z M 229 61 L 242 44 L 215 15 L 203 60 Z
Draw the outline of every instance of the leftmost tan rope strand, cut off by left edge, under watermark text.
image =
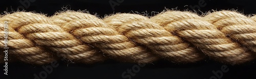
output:
M 15 16 L 14 14 L 10 14 L 11 16 Z M 10 17 L 11 17 L 10 16 Z M 9 19 L 7 16 L 6 19 Z M 9 19 L 8 22 L 10 22 L 13 19 Z M 1 18 L 1 22 L 2 18 Z M 3 49 L 5 47 L 4 44 L 4 25 L 1 23 L 1 51 L 5 51 Z M 45 51 L 44 47 L 36 46 L 32 41 L 27 39 L 24 35 L 18 33 L 15 31 L 12 27 L 8 27 L 8 47 L 11 47 L 10 50 L 8 50 L 8 53 L 11 55 L 14 55 L 14 57 L 17 57 L 18 60 L 27 62 L 27 63 L 33 63 L 33 64 L 46 64 L 54 60 L 52 56 L 52 53 L 49 53 Z M 5 54 L 2 54 L 1 57 L 3 61 Z M 9 56 L 10 57 L 10 56 Z M 14 58 L 12 58 L 13 60 Z M 9 59 L 8 61 L 10 61 Z

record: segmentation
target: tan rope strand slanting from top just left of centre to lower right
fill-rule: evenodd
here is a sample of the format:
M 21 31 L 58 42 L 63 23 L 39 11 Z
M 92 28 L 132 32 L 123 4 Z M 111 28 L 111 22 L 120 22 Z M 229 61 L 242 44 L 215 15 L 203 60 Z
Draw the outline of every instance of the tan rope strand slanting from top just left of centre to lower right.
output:
M 123 35 L 133 39 L 153 53 L 173 62 L 195 62 L 204 58 L 197 49 L 174 36 L 148 18 L 135 14 L 116 14 L 104 22 Z

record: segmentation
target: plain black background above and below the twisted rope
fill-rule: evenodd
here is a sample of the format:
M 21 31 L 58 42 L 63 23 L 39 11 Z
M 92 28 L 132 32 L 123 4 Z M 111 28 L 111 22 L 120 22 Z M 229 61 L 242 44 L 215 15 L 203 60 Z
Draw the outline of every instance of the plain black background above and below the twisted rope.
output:
M 22 0 L 24 1 L 24 0 Z M 117 2 L 116 0 L 112 0 Z M 202 1 L 202 0 L 201 0 Z M 201 12 L 207 12 L 209 10 L 238 10 L 246 15 L 256 13 L 256 1 L 253 0 L 204 0 L 206 6 L 200 7 Z M 119 6 L 115 6 L 113 10 L 109 3 L 109 0 L 35 0 L 30 2 L 30 6 L 24 8 L 26 11 L 33 11 L 37 13 L 45 13 L 47 16 L 53 15 L 55 12 L 61 10 L 87 10 L 91 14 L 96 14 L 99 17 L 104 17 L 105 14 L 112 13 L 129 13 L 129 12 L 145 12 L 151 15 L 152 11 L 161 12 L 165 8 L 177 9 L 177 10 L 195 10 L 198 14 L 201 14 L 199 9 L 193 9 L 189 6 L 197 6 L 199 0 L 124 0 L 119 3 Z M 28 4 L 27 4 L 28 5 Z M 17 11 L 17 7 L 23 6 L 18 0 L 14 1 L 1 1 L 0 13 L 4 14 L 4 11 L 12 12 Z M 24 7 L 24 6 L 23 6 Z M 65 8 L 63 8 L 65 7 Z M 12 9 L 11 9 L 12 8 Z M 114 60 L 107 60 L 103 63 L 96 64 L 67 64 L 67 62 L 58 61 L 59 66 L 53 68 L 51 74 L 47 75 L 47 78 L 71 78 L 71 79 L 93 79 L 93 78 L 122 78 L 122 73 L 126 69 L 131 69 L 136 64 L 133 63 L 121 63 Z M 2 65 L 2 64 L 1 64 Z M 3 64 L 4 65 L 4 64 Z M 0 78 L 34 78 L 34 73 L 39 74 L 40 71 L 44 71 L 41 66 L 33 66 L 31 64 L 25 64 L 20 62 L 9 63 L 8 74 L 4 75 L 4 67 L 0 67 Z M 196 63 L 189 64 L 175 64 L 166 60 L 159 60 L 144 67 L 140 67 L 140 71 L 136 73 L 132 78 L 210 78 L 215 74 L 212 71 L 221 70 L 221 66 L 224 63 L 218 63 L 205 59 Z M 256 78 L 256 64 L 253 62 L 242 65 L 228 65 L 229 71 L 223 73 L 221 78 Z

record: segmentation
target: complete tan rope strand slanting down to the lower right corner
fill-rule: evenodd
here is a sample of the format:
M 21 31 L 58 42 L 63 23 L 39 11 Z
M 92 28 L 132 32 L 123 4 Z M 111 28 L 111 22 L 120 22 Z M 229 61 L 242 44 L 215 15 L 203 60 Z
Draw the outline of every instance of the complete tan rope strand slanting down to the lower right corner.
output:
M 176 32 L 178 36 L 185 38 L 186 41 L 197 46 L 208 56 L 222 62 L 238 64 L 254 58 L 252 52 L 247 51 L 246 48 L 241 47 L 238 43 L 232 42 L 217 29 L 217 26 L 204 21 L 209 20 L 207 16 L 204 18 L 189 12 L 168 11 L 151 19 L 158 22 L 166 30 Z

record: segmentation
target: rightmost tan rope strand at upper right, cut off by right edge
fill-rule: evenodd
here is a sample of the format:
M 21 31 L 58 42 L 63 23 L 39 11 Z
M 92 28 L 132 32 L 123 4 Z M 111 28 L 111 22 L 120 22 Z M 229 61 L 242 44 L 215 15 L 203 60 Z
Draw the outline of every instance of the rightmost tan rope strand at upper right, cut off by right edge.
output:
M 251 51 L 256 52 L 256 22 L 236 12 L 216 12 L 204 17 L 231 39 L 238 40 Z

